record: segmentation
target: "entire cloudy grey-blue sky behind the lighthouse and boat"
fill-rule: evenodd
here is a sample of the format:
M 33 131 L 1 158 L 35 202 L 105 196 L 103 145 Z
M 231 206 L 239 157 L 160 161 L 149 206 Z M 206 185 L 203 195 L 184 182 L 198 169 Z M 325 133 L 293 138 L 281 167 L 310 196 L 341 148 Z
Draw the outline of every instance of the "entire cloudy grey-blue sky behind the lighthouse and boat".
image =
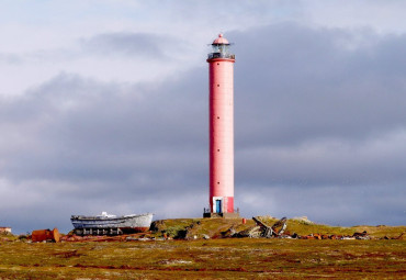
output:
M 405 1 L 2 0 L 0 226 L 198 217 L 234 42 L 241 215 L 406 224 Z

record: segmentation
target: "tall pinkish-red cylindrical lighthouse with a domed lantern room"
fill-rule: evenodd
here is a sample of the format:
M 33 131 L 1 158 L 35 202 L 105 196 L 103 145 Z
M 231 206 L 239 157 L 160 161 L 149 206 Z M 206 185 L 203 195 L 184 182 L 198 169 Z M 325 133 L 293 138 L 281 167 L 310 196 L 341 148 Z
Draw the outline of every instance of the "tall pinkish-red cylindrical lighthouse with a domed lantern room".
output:
M 219 34 L 208 54 L 210 209 L 205 217 L 237 217 L 234 210 L 234 63 Z

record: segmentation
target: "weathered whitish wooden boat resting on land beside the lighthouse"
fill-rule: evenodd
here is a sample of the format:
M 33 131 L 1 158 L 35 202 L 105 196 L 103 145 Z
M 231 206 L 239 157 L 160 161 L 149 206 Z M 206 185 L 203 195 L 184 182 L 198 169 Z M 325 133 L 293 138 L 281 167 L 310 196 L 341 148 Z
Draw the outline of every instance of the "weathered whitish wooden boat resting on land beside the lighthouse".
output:
M 147 232 L 154 214 L 131 214 L 116 216 L 102 212 L 101 215 L 72 215 L 70 221 L 77 235 L 120 235 Z

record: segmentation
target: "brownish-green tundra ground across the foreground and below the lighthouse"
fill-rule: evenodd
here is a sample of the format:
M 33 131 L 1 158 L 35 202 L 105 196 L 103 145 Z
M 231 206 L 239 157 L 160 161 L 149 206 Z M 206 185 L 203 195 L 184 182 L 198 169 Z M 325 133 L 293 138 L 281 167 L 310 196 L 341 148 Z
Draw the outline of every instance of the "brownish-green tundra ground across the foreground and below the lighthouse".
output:
M 289 220 L 286 231 L 298 235 L 366 231 L 372 239 L 227 237 L 229 228 L 253 226 L 240 220 L 166 220 L 154 223 L 150 238 L 122 242 L 29 243 L 1 235 L 0 279 L 406 279 L 406 242 L 391 239 L 406 226 Z

